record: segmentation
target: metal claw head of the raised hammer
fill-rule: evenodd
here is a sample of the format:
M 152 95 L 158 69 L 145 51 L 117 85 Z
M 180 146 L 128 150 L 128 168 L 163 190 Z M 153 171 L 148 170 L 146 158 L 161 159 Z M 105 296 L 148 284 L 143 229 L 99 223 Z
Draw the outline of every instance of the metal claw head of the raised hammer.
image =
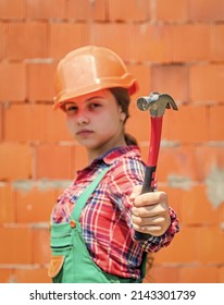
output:
M 165 109 L 178 110 L 174 99 L 167 94 L 151 93 L 147 97 L 137 99 L 138 109 L 146 111 L 149 109 L 151 117 L 162 117 Z

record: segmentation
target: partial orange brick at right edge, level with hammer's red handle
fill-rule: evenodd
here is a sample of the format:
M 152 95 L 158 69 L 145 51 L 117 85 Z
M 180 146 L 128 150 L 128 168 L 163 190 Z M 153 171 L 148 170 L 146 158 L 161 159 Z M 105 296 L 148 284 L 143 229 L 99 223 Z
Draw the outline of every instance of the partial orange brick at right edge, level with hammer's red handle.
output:
M 224 106 L 215 106 L 210 108 L 209 112 L 209 139 L 224 139 Z

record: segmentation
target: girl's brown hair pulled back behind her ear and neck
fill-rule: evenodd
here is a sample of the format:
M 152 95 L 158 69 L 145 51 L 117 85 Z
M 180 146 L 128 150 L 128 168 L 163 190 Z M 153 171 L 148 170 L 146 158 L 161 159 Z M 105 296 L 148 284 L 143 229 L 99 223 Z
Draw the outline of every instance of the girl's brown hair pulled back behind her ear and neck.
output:
M 126 118 L 124 120 L 124 125 L 127 121 L 127 119 L 129 118 L 129 103 L 130 103 L 130 97 L 128 94 L 128 90 L 125 88 L 120 88 L 120 87 L 115 87 L 115 88 L 110 88 L 112 95 L 115 97 L 117 103 L 122 107 L 122 112 L 124 112 L 126 114 Z M 126 144 L 129 145 L 138 145 L 137 139 L 127 133 L 124 133 L 124 138 Z

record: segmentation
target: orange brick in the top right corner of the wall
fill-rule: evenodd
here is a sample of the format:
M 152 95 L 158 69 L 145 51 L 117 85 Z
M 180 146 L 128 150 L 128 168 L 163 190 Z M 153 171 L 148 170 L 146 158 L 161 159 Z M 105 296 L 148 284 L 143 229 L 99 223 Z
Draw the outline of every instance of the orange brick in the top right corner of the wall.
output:
M 191 21 L 223 21 L 223 0 L 189 0 L 189 19 Z

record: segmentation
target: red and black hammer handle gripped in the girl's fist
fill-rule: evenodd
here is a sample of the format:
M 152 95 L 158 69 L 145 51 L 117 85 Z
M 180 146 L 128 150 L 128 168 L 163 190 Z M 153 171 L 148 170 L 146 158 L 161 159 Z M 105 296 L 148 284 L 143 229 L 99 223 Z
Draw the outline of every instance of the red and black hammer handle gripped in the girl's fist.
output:
M 162 133 L 162 120 L 163 117 L 151 117 L 151 137 L 149 146 L 149 155 L 147 160 L 147 167 L 145 171 L 144 184 L 141 194 L 154 192 L 155 190 L 155 170 L 158 156 L 160 150 L 161 133 Z M 135 231 L 134 239 L 137 241 L 147 241 L 150 237 L 149 234 Z

